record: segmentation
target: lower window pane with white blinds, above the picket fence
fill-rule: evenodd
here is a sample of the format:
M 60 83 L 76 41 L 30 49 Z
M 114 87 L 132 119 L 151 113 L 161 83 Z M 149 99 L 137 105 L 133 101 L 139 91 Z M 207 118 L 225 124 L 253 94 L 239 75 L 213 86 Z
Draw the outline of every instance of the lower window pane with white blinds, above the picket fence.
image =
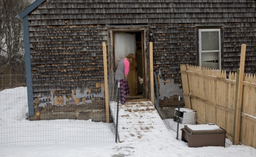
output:
M 212 69 L 219 69 L 218 54 L 219 54 L 218 52 L 202 52 L 201 53 L 202 66 L 212 68 Z

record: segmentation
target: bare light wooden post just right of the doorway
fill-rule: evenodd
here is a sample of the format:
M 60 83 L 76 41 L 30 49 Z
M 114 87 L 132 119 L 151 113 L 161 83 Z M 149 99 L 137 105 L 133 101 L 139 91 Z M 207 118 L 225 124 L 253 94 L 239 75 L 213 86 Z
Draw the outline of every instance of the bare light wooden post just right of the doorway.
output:
M 151 102 L 155 105 L 154 101 L 154 69 L 153 69 L 153 43 L 150 42 L 150 93 L 151 93 Z

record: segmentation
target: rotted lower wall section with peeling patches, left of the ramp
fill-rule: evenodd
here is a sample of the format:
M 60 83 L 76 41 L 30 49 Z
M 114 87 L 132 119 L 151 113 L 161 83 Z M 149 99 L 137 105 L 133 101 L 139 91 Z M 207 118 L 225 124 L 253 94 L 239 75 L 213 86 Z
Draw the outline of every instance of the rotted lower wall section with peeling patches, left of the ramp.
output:
M 34 97 L 35 115 L 30 120 L 79 119 L 106 122 L 104 83 L 94 89 L 50 91 Z M 40 96 L 42 95 L 42 96 Z

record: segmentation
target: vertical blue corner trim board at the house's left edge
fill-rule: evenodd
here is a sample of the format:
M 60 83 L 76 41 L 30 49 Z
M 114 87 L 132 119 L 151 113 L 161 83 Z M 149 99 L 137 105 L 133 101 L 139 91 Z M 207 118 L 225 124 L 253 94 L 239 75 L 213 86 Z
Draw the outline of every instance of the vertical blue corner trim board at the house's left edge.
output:
M 29 44 L 29 29 L 28 29 L 28 15 L 23 18 L 23 32 L 24 32 L 24 49 L 25 49 L 25 66 L 27 79 L 27 94 L 28 94 L 28 114 L 34 115 L 33 102 L 33 86 L 32 86 L 32 72 L 30 61 L 30 44 Z

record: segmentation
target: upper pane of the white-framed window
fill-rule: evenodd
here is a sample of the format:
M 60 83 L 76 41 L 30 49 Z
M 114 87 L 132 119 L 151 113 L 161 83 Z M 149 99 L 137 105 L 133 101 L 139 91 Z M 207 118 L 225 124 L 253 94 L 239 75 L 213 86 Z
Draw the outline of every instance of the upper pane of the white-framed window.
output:
M 201 32 L 202 51 L 219 50 L 218 31 Z

